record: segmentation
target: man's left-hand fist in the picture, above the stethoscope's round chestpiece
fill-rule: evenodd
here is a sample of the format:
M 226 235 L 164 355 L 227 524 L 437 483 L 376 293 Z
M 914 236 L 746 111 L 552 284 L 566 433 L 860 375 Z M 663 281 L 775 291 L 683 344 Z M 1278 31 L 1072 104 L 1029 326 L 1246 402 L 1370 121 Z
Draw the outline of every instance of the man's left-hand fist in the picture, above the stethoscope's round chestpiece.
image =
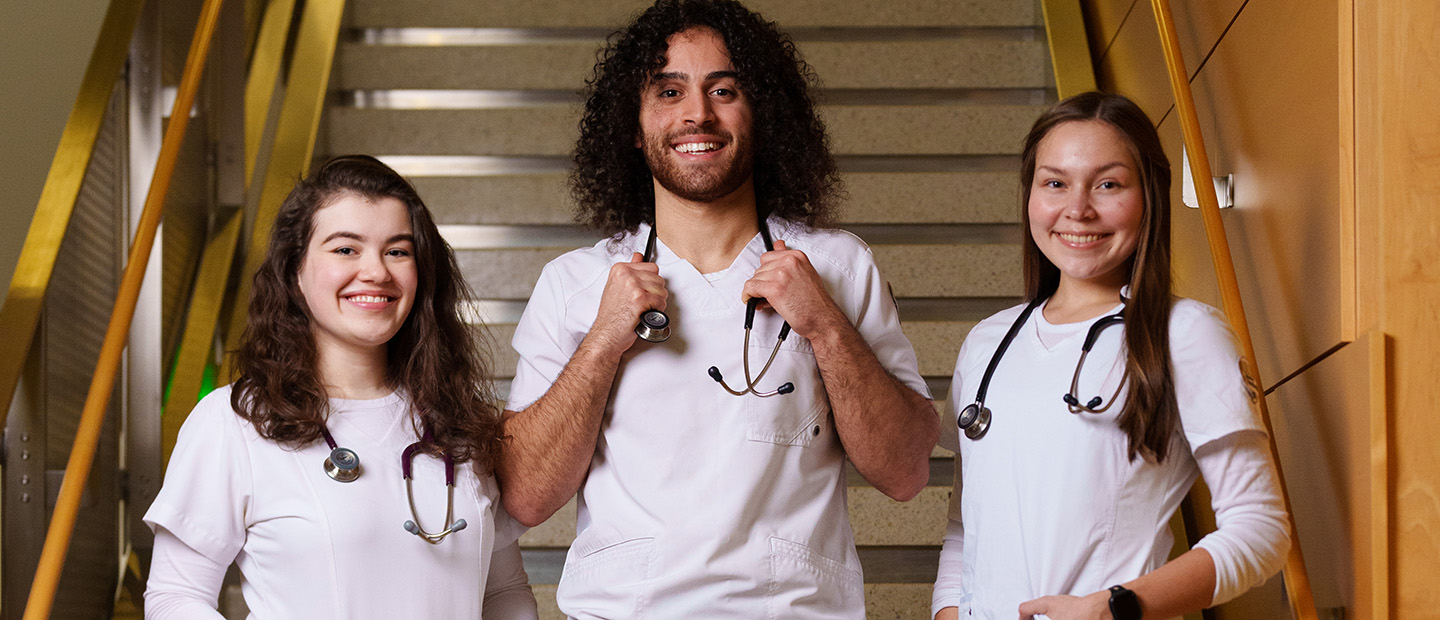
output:
M 665 279 L 660 276 L 660 265 L 647 263 L 639 252 L 631 255 L 628 263 L 611 266 L 611 275 L 605 281 L 605 292 L 600 293 L 600 309 L 595 316 L 595 327 L 586 339 L 611 354 L 622 354 L 635 344 L 635 325 L 645 311 L 665 309 L 670 291 L 665 289 Z

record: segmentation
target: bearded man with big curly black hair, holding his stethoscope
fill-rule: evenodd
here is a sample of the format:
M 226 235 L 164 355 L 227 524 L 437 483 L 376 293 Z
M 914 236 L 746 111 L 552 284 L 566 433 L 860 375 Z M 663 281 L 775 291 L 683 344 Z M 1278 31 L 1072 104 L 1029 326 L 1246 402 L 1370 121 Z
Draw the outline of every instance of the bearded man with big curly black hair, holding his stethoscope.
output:
M 926 485 L 937 417 L 888 286 L 811 227 L 837 173 L 806 86 L 733 0 L 661 0 L 596 65 L 572 186 L 612 239 L 536 285 L 498 470 L 527 525 L 579 491 L 572 617 L 861 619 L 844 463 L 896 499 Z M 648 309 L 668 341 L 636 338 Z

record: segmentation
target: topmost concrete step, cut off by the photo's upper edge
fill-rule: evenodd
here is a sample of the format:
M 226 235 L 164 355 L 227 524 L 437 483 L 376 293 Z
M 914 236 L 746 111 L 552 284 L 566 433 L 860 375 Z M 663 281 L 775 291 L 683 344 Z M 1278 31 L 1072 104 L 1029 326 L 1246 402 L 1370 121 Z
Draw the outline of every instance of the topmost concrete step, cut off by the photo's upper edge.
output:
M 354 0 L 350 23 L 357 27 L 618 27 L 649 3 L 641 0 Z M 796 26 L 1038 26 L 1040 3 L 1008 0 L 750 0 L 766 19 Z

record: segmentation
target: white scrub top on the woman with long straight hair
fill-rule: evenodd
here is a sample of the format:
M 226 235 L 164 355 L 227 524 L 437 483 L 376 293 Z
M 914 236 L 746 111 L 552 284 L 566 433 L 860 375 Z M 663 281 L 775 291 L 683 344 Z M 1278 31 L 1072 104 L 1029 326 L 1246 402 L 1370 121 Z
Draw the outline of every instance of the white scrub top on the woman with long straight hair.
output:
M 1123 391 L 1104 413 L 1067 410 L 1061 396 L 1093 319 L 1051 325 L 1044 305 L 995 370 L 985 398 L 989 432 L 965 437 L 955 417 L 975 401 L 995 348 L 1022 309 L 999 312 L 966 337 L 942 424 L 940 443 L 959 452 L 959 506 L 952 506 L 933 610 L 958 606 L 962 619 L 1014 619 L 1022 601 L 1084 596 L 1158 568 L 1171 550 L 1169 518 L 1200 475 L 1195 453 L 1234 433 L 1264 433 L 1230 328 L 1214 308 L 1178 299 L 1169 334 L 1181 432 L 1164 463 L 1130 460 L 1129 440 L 1116 426 Z M 1125 374 L 1123 341 L 1122 325 L 1102 332 L 1080 377 L 1081 403 L 1115 394 Z M 1259 465 L 1267 470 L 1257 472 L 1250 485 L 1257 493 L 1244 499 L 1259 508 L 1250 524 L 1227 531 L 1223 522 L 1201 541 L 1221 568 L 1236 565 L 1237 554 L 1263 555 L 1260 564 L 1269 565 L 1283 557 L 1287 538 L 1273 466 L 1264 457 Z M 1217 501 L 1238 493 L 1234 482 L 1207 480 Z M 1273 573 L 1253 571 L 1263 578 L 1266 570 Z

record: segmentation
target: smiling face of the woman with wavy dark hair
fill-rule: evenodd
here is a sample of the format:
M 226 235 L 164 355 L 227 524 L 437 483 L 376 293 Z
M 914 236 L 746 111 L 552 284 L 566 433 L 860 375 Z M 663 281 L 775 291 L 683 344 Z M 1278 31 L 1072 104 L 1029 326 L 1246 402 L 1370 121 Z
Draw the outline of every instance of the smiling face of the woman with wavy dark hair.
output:
M 314 214 L 297 275 L 315 350 L 384 355 L 415 304 L 415 237 L 405 203 L 344 193 Z

